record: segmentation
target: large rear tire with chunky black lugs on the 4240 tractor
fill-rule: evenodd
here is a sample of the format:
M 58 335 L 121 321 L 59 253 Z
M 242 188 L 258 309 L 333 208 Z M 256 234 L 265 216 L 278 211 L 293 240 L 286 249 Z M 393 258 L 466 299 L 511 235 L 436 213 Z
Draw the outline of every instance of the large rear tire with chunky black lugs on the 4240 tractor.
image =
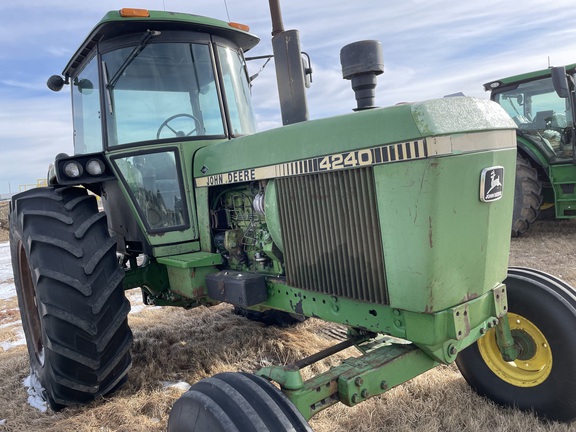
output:
M 95 197 L 52 187 L 14 196 L 10 250 L 36 390 L 59 410 L 120 387 L 131 365 L 130 303 Z

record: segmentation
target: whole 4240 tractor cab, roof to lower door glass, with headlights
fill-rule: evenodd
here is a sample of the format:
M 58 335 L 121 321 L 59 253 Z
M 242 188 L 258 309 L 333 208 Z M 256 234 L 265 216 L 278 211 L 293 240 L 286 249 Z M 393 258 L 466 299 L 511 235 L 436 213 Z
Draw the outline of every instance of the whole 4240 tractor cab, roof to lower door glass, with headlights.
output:
M 197 239 L 185 192 L 194 153 L 256 130 L 244 52 L 259 39 L 247 30 L 184 13 L 107 13 L 48 81 L 70 85 L 74 124 L 74 156 L 56 158 L 50 183 L 101 195 L 121 245 Z

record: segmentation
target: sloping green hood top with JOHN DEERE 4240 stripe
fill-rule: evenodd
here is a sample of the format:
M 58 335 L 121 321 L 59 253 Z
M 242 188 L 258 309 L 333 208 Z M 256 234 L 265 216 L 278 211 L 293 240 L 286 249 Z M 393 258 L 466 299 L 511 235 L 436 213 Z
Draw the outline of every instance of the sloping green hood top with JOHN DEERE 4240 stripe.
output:
M 442 136 L 501 129 L 515 123 L 485 99 L 452 97 L 301 122 L 219 142 L 198 151 L 196 186 L 513 147 L 515 139 L 470 140 L 456 146 Z M 325 143 L 331 143 L 326 147 Z

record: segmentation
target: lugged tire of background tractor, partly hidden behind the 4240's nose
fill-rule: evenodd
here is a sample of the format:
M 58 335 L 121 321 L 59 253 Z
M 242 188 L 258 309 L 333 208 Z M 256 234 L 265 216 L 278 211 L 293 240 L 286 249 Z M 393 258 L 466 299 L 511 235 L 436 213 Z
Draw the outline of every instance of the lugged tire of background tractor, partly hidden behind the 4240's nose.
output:
M 538 171 L 520 153 L 516 155 L 516 183 L 514 186 L 514 211 L 512 237 L 528 231 L 536 220 L 542 205 L 542 182 Z

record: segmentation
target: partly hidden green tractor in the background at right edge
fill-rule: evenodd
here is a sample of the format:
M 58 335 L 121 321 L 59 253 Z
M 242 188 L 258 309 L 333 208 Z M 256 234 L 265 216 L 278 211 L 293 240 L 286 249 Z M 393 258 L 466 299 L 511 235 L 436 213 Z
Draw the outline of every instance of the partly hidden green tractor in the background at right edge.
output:
M 576 64 L 484 84 L 514 119 L 518 156 L 512 236 L 526 232 L 543 209 L 576 217 L 574 74 Z

